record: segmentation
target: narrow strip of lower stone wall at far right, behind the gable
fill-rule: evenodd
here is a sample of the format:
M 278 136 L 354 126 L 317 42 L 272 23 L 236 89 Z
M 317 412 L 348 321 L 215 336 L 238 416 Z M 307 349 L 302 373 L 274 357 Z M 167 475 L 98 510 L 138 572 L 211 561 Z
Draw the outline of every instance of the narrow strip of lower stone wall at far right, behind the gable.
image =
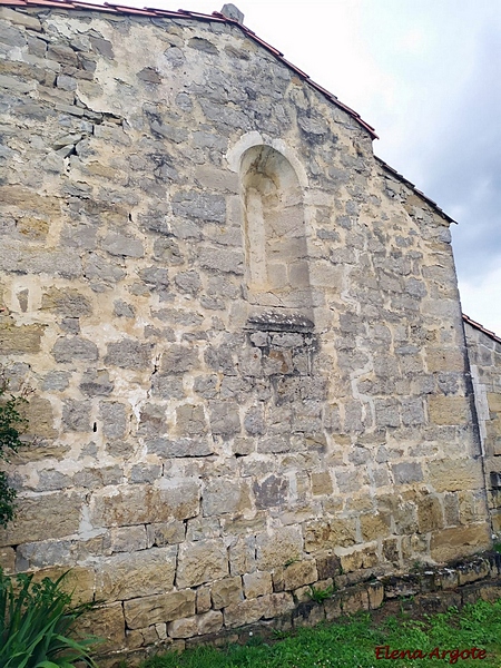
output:
M 501 343 L 465 320 L 468 355 L 484 452 L 485 487 L 493 530 L 501 537 Z

